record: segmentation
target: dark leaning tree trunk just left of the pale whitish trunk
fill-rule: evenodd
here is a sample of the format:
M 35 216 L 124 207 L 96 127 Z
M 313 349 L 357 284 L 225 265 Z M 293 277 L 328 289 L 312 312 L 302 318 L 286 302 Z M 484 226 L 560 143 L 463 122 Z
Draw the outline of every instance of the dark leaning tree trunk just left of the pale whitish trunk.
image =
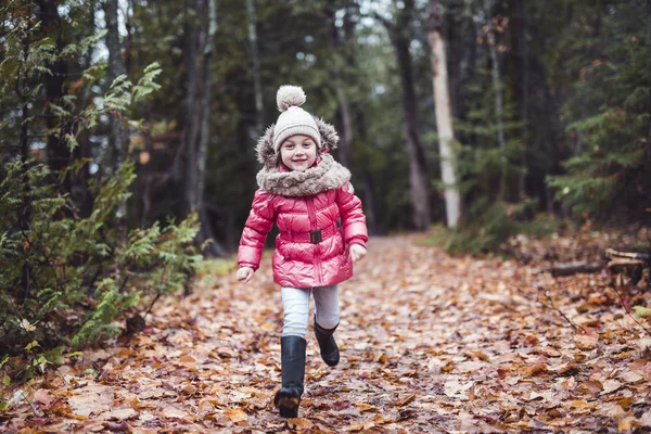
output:
M 403 90 L 404 125 L 407 135 L 407 152 L 409 154 L 409 184 L 411 190 L 411 204 L 413 206 L 413 226 L 417 230 L 430 228 L 430 194 L 426 158 L 421 145 L 418 132 L 418 110 L 416 104 L 416 91 L 413 89 L 413 72 L 411 54 L 409 53 L 410 37 L 407 35 L 413 1 L 405 1 L 405 7 L 398 15 L 397 24 L 391 25 L 382 21 L 386 26 L 396 58 L 400 75 L 400 87 Z

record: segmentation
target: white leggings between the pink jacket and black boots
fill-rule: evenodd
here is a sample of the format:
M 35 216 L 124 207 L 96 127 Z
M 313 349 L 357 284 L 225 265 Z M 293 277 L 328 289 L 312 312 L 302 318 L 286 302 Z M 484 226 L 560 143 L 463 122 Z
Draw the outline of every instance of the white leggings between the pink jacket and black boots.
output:
M 309 294 L 315 295 L 317 323 L 323 329 L 339 324 L 339 289 L 336 285 L 316 288 L 286 288 L 281 290 L 284 323 L 283 336 L 305 337 L 309 320 Z

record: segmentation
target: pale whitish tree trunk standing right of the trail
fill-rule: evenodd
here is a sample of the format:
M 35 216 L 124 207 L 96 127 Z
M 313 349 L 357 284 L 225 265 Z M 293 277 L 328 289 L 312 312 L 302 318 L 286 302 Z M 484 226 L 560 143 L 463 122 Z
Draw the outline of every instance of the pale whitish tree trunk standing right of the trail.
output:
M 445 208 L 448 228 L 455 228 L 461 216 L 461 199 L 455 169 L 455 141 L 450 108 L 445 41 L 441 31 L 441 0 L 430 0 L 430 46 L 432 47 L 432 74 L 436 105 L 436 129 L 441 173 L 445 188 Z

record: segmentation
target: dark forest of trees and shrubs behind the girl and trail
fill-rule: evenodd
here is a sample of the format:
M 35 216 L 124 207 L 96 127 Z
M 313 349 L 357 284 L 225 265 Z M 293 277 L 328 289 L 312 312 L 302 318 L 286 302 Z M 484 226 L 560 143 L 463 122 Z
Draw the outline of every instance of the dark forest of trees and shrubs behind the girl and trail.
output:
M 447 224 L 448 250 L 478 254 L 649 227 L 651 1 L 10 0 L 0 15 L 0 367 L 27 352 L 22 375 L 138 306 L 139 330 L 202 254 L 237 248 L 284 84 L 336 126 L 372 234 Z

